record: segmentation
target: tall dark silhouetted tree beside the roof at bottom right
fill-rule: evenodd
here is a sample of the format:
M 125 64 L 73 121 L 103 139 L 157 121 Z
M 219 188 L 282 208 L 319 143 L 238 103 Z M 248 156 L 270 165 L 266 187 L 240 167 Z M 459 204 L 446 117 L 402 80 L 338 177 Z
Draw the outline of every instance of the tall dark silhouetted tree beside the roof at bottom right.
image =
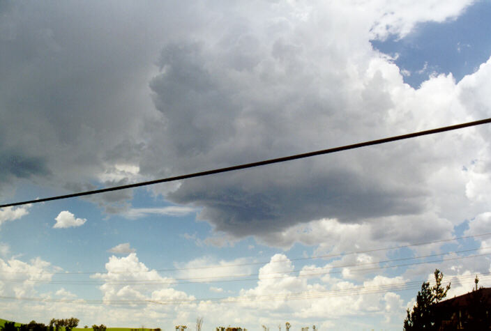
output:
M 435 325 L 435 311 L 433 305 L 446 297 L 450 289 L 450 283 L 446 287 L 441 286 L 444 274 L 435 270 L 435 285 L 430 287 L 430 282 L 423 282 L 421 291 L 416 296 L 416 305 L 412 311 L 407 309 L 407 317 L 404 321 L 404 330 L 437 330 Z

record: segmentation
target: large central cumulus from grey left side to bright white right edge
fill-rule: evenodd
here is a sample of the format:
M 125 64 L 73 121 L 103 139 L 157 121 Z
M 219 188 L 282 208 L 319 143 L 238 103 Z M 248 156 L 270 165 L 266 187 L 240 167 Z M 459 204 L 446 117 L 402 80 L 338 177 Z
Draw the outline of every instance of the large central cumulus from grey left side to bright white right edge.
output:
M 328 25 L 301 4 L 270 9 L 283 20 L 278 24 L 271 19 L 268 26 L 253 19 L 244 22 L 239 12 L 232 11 L 229 15 L 237 17 L 232 21 L 240 23 L 220 21 L 232 24 L 230 33 L 164 47 L 161 73 L 150 86 L 166 130 L 156 133 L 161 134 L 158 144 L 150 142 L 152 152 L 144 157 L 141 171 L 153 171 L 152 164 L 164 158 L 169 173 L 176 174 L 193 171 L 194 164 L 220 167 L 481 117 L 478 108 L 468 107 L 462 98 L 469 82 L 455 84 L 451 75 L 439 75 L 415 91 L 403 84 L 400 70 L 368 43 L 366 17 L 338 22 L 335 17 L 345 15 L 334 13 L 349 5 L 326 6 L 319 8 L 331 10 Z M 444 17 L 458 15 L 465 6 L 449 6 Z M 305 15 L 291 15 L 289 10 Z M 411 24 L 428 20 L 413 18 L 408 19 Z M 405 17 L 398 20 L 405 22 Z M 349 37 L 329 33 L 331 26 L 342 24 L 353 29 L 346 32 Z M 405 29 L 395 31 L 404 35 Z M 319 30 L 326 31 L 322 37 L 326 40 L 302 38 Z M 364 41 L 353 42 L 363 36 Z M 325 46 L 330 43 L 337 47 Z M 464 220 L 459 217 L 475 213 L 465 207 L 461 169 L 463 160 L 481 153 L 482 143 L 478 130 L 415 139 L 220 178 L 185 180 L 167 198 L 203 206 L 199 220 L 238 238 L 267 237 L 323 217 L 342 223 L 389 224 L 385 232 L 377 229 L 380 236 L 398 231 L 397 223 L 405 220 L 416 224 L 430 218 L 444 231 L 400 231 L 400 236 L 435 238 L 448 235 L 452 224 Z M 442 199 L 448 176 L 455 184 Z M 278 243 L 273 236 L 269 239 L 268 243 Z

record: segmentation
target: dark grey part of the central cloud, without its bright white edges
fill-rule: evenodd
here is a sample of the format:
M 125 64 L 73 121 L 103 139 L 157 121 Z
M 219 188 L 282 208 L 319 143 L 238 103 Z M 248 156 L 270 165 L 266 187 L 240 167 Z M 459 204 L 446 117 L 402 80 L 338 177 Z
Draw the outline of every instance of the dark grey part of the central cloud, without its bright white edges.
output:
M 164 47 L 158 63 L 162 73 L 150 86 L 165 130 L 149 144 L 151 155 L 144 157 L 142 171 L 153 172 L 155 164 L 165 162 L 167 174 L 183 174 L 354 142 L 370 137 L 365 133 L 370 130 L 359 128 L 382 121 L 394 107 L 382 75 L 350 95 L 352 82 L 344 68 L 329 68 L 323 75 L 319 65 L 296 57 L 301 46 L 288 46 L 285 38 L 267 41 L 258 46 L 263 63 L 248 69 L 233 60 L 218 61 L 241 57 L 241 49 L 231 53 L 228 43 L 234 41 L 228 36 L 214 49 L 204 43 Z M 383 132 L 390 130 L 372 134 Z M 204 207 L 200 219 L 234 236 L 322 217 L 361 222 L 421 213 L 428 192 L 418 185 L 421 174 L 401 162 L 404 154 L 384 147 L 184 180 L 167 198 Z M 393 160 L 396 155 L 402 158 Z M 407 175 L 394 178 L 397 167 Z

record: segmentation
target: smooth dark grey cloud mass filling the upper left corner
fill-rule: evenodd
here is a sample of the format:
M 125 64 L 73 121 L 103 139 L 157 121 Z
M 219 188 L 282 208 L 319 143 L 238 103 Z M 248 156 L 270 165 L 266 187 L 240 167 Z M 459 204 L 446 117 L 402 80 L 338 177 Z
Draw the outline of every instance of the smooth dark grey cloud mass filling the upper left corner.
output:
M 155 114 L 149 77 L 163 30 L 176 23 L 165 6 L 2 2 L 3 176 L 93 183 L 107 164 L 137 160 L 142 128 Z

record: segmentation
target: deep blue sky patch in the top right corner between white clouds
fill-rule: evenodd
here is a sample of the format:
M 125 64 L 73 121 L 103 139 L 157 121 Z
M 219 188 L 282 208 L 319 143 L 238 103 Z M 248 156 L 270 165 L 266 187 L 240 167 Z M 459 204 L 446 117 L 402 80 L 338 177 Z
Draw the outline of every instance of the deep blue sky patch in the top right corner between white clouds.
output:
M 469 6 L 456 20 L 424 22 L 405 38 L 371 40 L 375 49 L 395 56 L 405 83 L 418 88 L 430 75 L 452 73 L 458 82 L 491 56 L 491 1 Z

